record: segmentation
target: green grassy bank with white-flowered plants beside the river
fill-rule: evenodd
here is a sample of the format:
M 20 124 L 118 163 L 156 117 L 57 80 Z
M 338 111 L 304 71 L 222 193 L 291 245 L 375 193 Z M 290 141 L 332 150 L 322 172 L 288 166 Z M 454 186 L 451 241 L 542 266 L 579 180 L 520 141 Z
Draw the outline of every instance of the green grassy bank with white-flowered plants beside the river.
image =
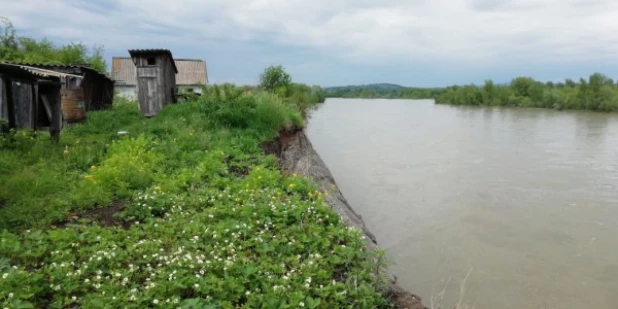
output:
M 3 135 L 0 306 L 388 307 L 361 233 L 262 155 L 303 125 L 291 101 L 228 85 L 89 113 L 57 145 Z

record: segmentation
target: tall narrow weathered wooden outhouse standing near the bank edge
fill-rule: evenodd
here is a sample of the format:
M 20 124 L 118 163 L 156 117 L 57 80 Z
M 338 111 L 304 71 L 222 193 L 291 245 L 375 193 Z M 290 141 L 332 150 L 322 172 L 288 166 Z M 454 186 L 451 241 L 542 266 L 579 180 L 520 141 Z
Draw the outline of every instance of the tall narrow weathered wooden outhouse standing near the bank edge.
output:
M 176 73 L 172 53 L 167 49 L 129 50 L 137 75 L 137 99 L 142 115 L 153 117 L 170 103 L 176 103 Z

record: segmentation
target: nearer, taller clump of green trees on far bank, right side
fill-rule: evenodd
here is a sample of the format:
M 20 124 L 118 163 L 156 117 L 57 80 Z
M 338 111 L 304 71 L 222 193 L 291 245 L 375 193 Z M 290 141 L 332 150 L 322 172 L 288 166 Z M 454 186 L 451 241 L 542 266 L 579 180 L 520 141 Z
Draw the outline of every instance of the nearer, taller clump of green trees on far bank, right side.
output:
M 539 82 L 518 77 L 508 85 L 491 80 L 483 86 L 451 86 L 436 99 L 437 103 L 454 105 L 493 105 L 541 107 L 594 111 L 618 110 L 618 85 L 607 76 L 595 73 L 578 82 Z

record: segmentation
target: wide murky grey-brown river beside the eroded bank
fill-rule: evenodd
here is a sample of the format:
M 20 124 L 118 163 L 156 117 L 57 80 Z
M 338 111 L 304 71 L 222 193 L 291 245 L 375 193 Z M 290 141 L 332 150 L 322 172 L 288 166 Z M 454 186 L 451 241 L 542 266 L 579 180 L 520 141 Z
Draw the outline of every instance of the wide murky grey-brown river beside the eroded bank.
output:
M 425 305 L 469 273 L 470 308 L 618 308 L 618 114 L 329 99 L 307 132 Z

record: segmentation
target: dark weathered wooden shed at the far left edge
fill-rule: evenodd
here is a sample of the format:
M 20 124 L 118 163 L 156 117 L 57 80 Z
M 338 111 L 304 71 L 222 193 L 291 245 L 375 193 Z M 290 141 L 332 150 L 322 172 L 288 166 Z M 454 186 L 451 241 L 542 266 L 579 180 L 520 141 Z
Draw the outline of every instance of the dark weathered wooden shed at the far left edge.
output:
M 66 74 L 0 63 L 0 119 L 10 128 L 48 127 L 57 140 L 62 123 L 60 88 Z

